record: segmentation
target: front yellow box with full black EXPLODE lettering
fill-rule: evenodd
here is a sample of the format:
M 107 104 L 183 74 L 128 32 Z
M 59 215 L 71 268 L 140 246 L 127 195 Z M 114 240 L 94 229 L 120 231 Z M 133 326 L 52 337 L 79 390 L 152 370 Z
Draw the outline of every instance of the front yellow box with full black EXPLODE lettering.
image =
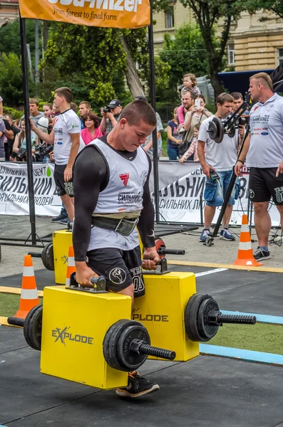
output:
M 120 319 L 130 319 L 125 295 L 44 288 L 41 372 L 99 389 L 128 384 L 128 373 L 108 366 L 103 339 Z

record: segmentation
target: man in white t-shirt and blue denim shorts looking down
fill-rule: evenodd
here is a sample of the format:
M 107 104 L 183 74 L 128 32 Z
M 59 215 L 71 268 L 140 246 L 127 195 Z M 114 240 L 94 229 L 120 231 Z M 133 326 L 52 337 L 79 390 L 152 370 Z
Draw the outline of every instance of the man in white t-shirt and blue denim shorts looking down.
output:
M 216 206 L 222 206 L 225 194 L 233 174 L 233 167 L 237 161 L 239 142 L 244 136 L 244 128 L 236 130 L 234 137 L 224 135 L 220 144 L 217 144 L 208 134 L 208 126 L 213 117 L 219 117 L 222 122 L 232 111 L 234 98 L 229 93 L 222 93 L 216 98 L 217 112 L 208 117 L 200 125 L 197 142 L 197 153 L 200 159 L 202 172 L 207 177 L 205 182 L 205 226 L 200 235 L 200 242 L 205 242 L 210 233 L 210 226 L 215 216 Z M 229 222 L 232 214 L 232 205 L 237 199 L 237 183 L 234 186 L 223 217 L 223 226 L 220 238 L 226 241 L 235 241 L 229 231 Z

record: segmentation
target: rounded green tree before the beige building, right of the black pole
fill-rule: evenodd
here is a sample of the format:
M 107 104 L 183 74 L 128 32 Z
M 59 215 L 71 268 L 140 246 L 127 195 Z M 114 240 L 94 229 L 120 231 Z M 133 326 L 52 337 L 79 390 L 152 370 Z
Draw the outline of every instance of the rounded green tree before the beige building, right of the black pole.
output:
M 197 77 L 208 73 L 205 42 L 197 25 L 185 24 L 175 31 L 175 38 L 165 33 L 164 46 L 159 56 L 171 67 L 170 87 L 181 83 L 185 73 Z

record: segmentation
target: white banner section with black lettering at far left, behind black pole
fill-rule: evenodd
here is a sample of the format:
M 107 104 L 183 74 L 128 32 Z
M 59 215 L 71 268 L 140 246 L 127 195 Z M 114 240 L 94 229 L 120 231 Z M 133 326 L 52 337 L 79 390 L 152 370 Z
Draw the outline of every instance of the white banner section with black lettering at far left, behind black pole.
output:
M 53 163 L 33 163 L 36 215 L 56 216 L 62 202 L 56 194 Z M 0 163 L 0 215 L 29 215 L 26 163 Z

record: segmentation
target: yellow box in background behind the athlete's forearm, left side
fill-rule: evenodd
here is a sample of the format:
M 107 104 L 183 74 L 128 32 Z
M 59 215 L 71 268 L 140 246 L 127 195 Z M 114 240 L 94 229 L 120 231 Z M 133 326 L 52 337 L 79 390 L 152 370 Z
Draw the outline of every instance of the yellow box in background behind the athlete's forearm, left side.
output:
M 65 285 L 66 283 L 68 248 L 72 245 L 71 231 L 60 230 L 53 232 L 54 273 L 55 283 L 58 283 L 58 285 Z

